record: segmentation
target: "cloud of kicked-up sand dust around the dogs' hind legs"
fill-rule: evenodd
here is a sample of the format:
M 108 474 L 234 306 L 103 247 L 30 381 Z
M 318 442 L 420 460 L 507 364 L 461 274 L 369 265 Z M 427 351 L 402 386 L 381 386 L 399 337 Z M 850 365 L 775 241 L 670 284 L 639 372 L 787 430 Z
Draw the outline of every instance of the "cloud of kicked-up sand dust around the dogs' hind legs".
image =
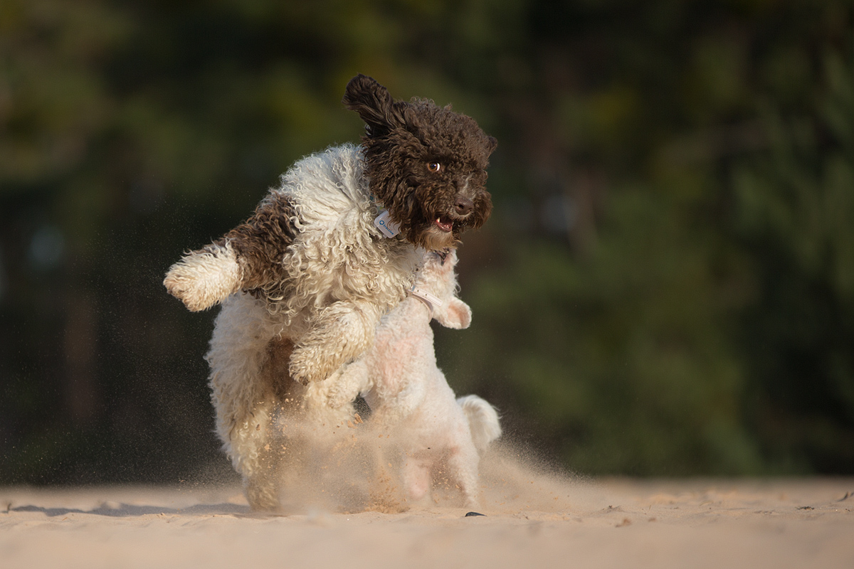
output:
M 297 436 L 275 439 L 271 446 L 279 451 L 271 464 L 280 488 L 278 514 L 398 514 L 465 505 L 444 465 L 436 468 L 428 496 L 408 502 L 400 478 L 403 453 L 394 436 L 370 420 L 304 428 Z M 579 500 L 590 502 L 591 508 L 598 502 L 590 481 L 560 473 L 512 440 L 491 444 L 479 470 L 479 513 L 558 513 L 577 507 Z

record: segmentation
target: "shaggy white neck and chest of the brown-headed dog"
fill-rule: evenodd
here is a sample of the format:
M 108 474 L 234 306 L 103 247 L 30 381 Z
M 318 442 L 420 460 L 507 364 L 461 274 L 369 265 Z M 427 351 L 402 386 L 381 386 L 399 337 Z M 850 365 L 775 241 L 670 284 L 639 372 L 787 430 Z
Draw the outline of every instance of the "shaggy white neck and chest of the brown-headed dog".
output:
M 380 314 L 412 286 L 420 255 L 373 226 L 357 148 L 330 148 L 297 163 L 273 190 L 299 212 L 300 231 L 284 253 L 283 302 L 292 316 L 310 317 L 335 302 L 365 302 Z

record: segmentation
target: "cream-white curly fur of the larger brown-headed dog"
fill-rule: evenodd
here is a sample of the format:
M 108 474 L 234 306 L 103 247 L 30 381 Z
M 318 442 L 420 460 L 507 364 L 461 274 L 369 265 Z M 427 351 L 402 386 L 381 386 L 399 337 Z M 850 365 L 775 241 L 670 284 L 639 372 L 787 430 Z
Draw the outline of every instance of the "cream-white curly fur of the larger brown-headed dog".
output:
M 284 459 L 268 451 L 273 415 L 294 423 L 288 416 L 305 414 L 300 405 L 283 404 L 300 400 L 306 389 L 291 377 L 324 380 L 366 351 L 380 317 L 412 286 L 421 259 L 412 244 L 374 227 L 378 206 L 363 166 L 360 147 L 345 144 L 300 160 L 271 189 L 266 201 L 287 195 L 298 213 L 278 297 L 237 292 L 241 267 L 228 243 L 185 256 L 165 281 L 191 310 L 222 303 L 207 355 L 216 431 L 256 509 L 279 503 L 273 463 Z M 271 342 L 282 353 L 271 351 Z

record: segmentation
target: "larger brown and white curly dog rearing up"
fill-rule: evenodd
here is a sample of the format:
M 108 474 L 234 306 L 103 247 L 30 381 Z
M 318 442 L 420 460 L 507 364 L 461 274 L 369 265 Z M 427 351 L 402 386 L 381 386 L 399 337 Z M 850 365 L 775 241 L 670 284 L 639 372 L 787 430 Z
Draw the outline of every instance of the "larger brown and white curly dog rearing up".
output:
M 366 123 L 360 146 L 296 162 L 245 223 L 164 281 L 191 311 L 222 303 L 207 355 L 217 433 L 256 509 L 278 507 L 276 465 L 291 446 L 272 444 L 272 415 L 298 417 L 304 386 L 371 347 L 412 287 L 419 248 L 454 247 L 492 208 L 496 142 L 474 119 L 395 101 L 363 75 L 343 103 Z

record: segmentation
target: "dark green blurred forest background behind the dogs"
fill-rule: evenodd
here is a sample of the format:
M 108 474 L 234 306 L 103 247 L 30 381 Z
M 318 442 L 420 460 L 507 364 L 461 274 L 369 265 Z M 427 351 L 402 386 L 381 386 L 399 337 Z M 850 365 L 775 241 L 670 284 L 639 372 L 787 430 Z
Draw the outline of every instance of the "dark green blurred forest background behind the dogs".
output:
M 564 469 L 854 473 L 854 3 L 3 0 L 0 483 L 230 473 L 161 285 L 355 73 L 499 139 L 458 393 Z

